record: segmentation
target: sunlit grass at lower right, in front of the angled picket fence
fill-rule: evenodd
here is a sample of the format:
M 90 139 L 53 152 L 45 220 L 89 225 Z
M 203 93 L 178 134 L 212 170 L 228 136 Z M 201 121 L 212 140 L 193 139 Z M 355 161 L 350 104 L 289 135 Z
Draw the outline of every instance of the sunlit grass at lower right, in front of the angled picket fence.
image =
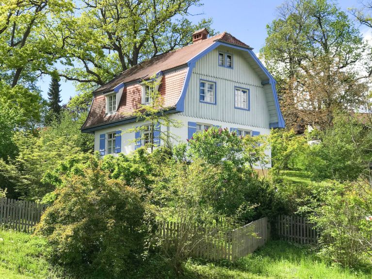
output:
M 189 262 L 187 278 L 371 279 L 371 274 L 328 266 L 306 246 L 272 241 L 235 264 Z M 193 277 L 190 277 L 193 276 Z

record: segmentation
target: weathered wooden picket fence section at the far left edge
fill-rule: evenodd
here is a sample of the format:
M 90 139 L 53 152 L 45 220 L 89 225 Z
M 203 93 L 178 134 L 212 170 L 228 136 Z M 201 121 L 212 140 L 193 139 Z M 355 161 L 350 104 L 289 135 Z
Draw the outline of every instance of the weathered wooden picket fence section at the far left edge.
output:
M 46 208 L 46 204 L 5 197 L 0 198 L 0 226 L 7 229 L 32 232 Z

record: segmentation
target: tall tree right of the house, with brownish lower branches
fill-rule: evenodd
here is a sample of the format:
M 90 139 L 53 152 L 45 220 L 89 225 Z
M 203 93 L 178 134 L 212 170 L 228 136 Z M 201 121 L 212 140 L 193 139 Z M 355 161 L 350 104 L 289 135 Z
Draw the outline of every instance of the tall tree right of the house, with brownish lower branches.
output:
M 361 104 L 363 78 L 371 75 L 366 43 L 347 14 L 326 0 L 289 0 L 277 12 L 261 55 L 278 80 L 287 126 L 323 129 L 341 104 L 349 110 Z

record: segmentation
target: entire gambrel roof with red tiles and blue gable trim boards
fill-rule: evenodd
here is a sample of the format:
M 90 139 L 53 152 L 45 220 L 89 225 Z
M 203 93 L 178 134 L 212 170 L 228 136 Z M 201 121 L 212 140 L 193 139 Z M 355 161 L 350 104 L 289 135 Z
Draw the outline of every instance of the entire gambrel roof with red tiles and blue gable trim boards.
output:
M 275 80 L 261 64 L 252 48 L 244 44 L 229 33 L 221 33 L 210 38 L 198 41 L 192 45 L 177 49 L 157 57 L 146 60 L 122 72 L 116 78 L 107 82 L 93 92 L 94 98 L 87 120 L 81 127 L 83 132 L 91 132 L 103 127 L 135 121 L 131 115 L 141 103 L 142 85 L 140 82 L 149 79 L 154 74 L 162 76 L 159 88 L 169 112 L 181 112 L 184 107 L 184 98 L 195 62 L 212 49 L 220 45 L 243 50 L 249 58 L 249 63 L 257 68 L 265 91 L 273 99 L 273 120 L 270 127 L 284 127 L 284 120 L 280 112 L 276 97 Z M 117 111 L 115 114 L 106 114 L 106 100 L 104 94 L 123 88 Z M 115 89 L 116 88 L 116 89 Z

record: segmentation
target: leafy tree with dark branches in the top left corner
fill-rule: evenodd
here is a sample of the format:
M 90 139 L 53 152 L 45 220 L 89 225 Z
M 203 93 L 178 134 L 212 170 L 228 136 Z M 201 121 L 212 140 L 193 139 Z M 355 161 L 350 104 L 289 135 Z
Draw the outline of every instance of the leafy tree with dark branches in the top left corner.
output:
M 60 56 L 63 41 L 53 33 L 73 8 L 70 0 L 9 0 L 0 8 L 0 77 L 11 87 L 35 90 L 39 70 Z

